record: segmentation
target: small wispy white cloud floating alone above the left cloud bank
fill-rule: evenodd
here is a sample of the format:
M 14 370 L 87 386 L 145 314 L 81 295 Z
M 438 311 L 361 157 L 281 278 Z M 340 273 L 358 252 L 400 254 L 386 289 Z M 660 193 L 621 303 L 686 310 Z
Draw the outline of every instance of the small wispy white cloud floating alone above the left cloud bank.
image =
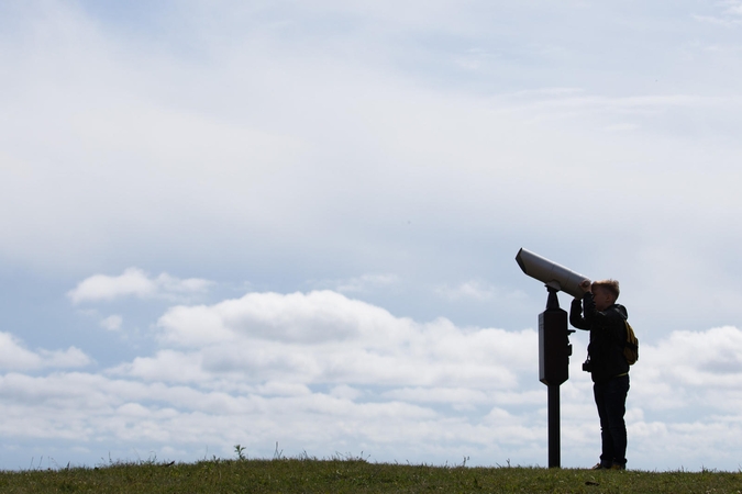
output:
M 93 274 L 80 281 L 67 293 L 75 304 L 82 302 L 112 301 L 115 299 L 136 296 L 140 299 L 178 297 L 204 293 L 211 281 L 200 278 L 185 280 L 162 273 L 156 278 L 137 268 L 129 268 L 118 277 Z

